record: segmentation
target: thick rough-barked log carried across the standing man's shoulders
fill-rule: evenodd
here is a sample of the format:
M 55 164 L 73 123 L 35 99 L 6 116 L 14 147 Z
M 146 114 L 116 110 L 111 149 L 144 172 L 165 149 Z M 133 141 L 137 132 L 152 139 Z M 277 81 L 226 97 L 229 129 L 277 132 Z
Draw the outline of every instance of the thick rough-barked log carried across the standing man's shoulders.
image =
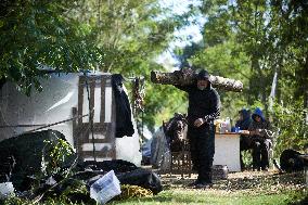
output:
M 172 73 L 151 72 L 151 81 L 163 85 L 188 86 L 195 84 L 196 74 L 192 69 L 175 71 Z M 221 90 L 241 92 L 243 84 L 240 80 L 210 75 L 211 86 Z

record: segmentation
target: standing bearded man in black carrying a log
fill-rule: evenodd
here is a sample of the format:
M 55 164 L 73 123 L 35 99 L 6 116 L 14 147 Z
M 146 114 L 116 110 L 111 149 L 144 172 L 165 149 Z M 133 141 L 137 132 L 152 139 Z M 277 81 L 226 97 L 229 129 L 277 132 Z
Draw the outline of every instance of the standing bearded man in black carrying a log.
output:
M 191 86 L 176 86 L 188 92 L 188 138 L 193 167 L 197 179 L 191 185 L 208 188 L 211 185 L 211 166 L 215 153 L 214 120 L 220 115 L 220 97 L 211 87 L 209 74 L 202 69 L 196 82 Z

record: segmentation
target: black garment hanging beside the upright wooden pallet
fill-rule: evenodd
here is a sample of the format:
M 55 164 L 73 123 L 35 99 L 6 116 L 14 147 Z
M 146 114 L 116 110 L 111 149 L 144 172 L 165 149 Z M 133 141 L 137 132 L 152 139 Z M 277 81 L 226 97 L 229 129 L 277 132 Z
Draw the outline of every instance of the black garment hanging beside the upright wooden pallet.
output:
M 124 136 L 131 137 L 134 133 L 131 121 L 131 108 L 128 97 L 123 88 L 123 80 L 124 78 L 120 74 L 112 75 L 112 86 L 116 104 L 116 138 L 123 138 Z

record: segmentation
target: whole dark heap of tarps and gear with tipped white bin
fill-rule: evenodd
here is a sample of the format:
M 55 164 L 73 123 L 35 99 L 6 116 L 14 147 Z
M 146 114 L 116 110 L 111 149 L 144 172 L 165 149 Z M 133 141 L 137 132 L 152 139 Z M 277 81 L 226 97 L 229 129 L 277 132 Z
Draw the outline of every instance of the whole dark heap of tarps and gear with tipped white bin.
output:
M 13 185 L 10 192 L 1 192 L 4 193 L 1 200 L 11 194 L 31 202 L 59 197 L 74 203 L 95 200 L 104 204 L 118 194 L 117 200 L 121 200 L 152 196 L 162 191 L 156 174 L 132 163 L 121 159 L 78 162 L 65 137 L 55 130 L 1 141 L 0 161 L 0 184 Z

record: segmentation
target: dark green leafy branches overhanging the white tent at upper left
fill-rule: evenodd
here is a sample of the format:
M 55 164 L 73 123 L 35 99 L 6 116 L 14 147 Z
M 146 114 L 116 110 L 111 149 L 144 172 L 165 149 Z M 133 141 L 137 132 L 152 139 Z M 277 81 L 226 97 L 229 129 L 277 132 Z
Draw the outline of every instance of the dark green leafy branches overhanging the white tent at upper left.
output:
M 0 77 L 27 94 L 40 89 L 40 66 L 76 72 L 93 66 L 97 50 L 91 28 L 66 15 L 75 1 L 15 0 L 1 2 Z

